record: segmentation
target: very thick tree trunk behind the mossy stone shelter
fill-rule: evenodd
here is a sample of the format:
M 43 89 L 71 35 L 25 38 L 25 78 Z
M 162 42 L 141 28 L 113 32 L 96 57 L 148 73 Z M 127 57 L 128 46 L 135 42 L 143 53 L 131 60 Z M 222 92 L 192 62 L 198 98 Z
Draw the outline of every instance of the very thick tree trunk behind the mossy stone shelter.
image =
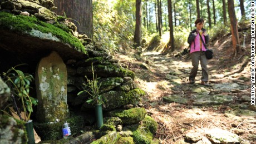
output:
M 77 26 L 79 33 L 84 33 L 93 40 L 93 21 L 92 21 L 92 0 L 75 1 L 75 0 L 58 0 L 54 1 L 57 9 L 55 13 L 61 16 L 75 19 L 72 21 Z

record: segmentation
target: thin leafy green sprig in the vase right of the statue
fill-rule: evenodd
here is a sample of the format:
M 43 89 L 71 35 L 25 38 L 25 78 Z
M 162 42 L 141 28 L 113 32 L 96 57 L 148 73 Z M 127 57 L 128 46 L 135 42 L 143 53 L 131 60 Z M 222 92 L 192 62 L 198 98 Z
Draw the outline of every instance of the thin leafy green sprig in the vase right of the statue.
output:
M 86 87 L 88 87 L 88 90 L 83 90 L 77 93 L 77 95 L 80 95 L 83 92 L 87 92 L 90 95 L 89 100 L 87 100 L 87 103 L 91 103 L 92 105 L 102 105 L 104 104 L 104 97 L 102 95 L 99 95 L 99 90 L 100 90 L 100 85 L 98 85 L 98 80 L 97 76 L 95 77 L 94 71 L 93 71 L 93 66 L 92 67 L 92 80 L 89 80 L 87 76 L 85 76 L 87 80 L 87 84 L 83 83 Z

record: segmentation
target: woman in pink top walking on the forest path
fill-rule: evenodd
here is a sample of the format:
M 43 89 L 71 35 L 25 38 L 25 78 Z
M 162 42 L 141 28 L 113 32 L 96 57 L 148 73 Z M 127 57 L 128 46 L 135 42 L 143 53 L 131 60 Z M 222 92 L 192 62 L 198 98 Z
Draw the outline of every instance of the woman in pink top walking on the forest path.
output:
M 206 46 L 209 42 L 209 35 L 204 29 L 204 19 L 198 18 L 195 21 L 195 27 L 193 31 L 189 33 L 188 43 L 190 45 L 190 54 L 192 60 L 192 66 L 189 83 L 192 85 L 195 83 L 195 77 L 198 73 L 199 61 L 202 69 L 201 85 L 208 85 L 208 71 L 207 71 L 207 59 L 205 57 Z M 203 41 L 202 41 L 203 40 Z

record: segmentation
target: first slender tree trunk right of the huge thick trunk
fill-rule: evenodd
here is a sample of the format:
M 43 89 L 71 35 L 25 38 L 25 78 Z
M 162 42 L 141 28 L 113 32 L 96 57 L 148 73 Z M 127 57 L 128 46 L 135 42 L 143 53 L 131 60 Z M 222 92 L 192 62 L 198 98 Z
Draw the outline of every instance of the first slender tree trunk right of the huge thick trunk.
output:
M 135 48 L 141 46 L 141 0 L 136 0 Z

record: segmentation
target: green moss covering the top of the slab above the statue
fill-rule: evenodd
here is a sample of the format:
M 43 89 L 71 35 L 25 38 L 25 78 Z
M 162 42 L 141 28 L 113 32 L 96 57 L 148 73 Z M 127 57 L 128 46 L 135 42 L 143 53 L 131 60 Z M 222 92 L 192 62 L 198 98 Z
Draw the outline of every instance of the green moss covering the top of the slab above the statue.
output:
M 52 24 L 39 21 L 35 17 L 14 16 L 10 13 L 0 12 L 0 29 L 9 29 L 10 31 L 20 33 L 29 33 L 32 29 L 36 29 L 42 33 L 52 33 L 53 36 L 61 39 L 63 43 L 70 44 L 77 51 L 87 53 L 79 39 L 72 36 L 71 33 L 67 33 Z

